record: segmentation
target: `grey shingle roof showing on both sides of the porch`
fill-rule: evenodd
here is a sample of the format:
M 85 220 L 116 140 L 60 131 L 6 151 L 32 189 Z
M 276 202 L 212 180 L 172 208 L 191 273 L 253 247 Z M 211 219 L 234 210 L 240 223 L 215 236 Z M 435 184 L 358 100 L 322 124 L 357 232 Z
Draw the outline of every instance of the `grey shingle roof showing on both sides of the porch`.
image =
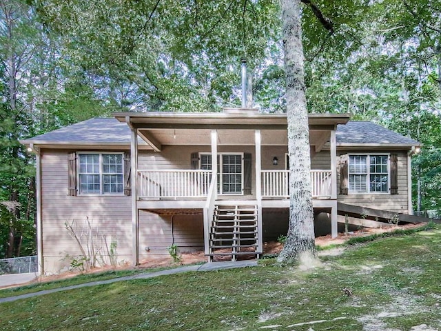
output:
M 349 121 L 339 124 L 337 143 L 345 144 L 396 144 L 418 145 L 418 141 L 383 128 L 369 121 Z M 22 141 L 23 143 L 127 143 L 130 144 L 130 128 L 114 118 L 88 119 L 52 132 Z

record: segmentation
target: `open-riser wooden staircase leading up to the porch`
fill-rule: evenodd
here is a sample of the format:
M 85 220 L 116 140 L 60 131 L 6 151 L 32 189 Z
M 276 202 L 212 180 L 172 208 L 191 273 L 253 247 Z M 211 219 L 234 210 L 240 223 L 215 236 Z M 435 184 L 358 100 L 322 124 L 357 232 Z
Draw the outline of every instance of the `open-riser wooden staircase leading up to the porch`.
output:
M 223 256 L 231 256 L 232 261 L 240 255 L 258 258 L 259 254 L 257 205 L 214 205 L 209 227 L 209 261 Z

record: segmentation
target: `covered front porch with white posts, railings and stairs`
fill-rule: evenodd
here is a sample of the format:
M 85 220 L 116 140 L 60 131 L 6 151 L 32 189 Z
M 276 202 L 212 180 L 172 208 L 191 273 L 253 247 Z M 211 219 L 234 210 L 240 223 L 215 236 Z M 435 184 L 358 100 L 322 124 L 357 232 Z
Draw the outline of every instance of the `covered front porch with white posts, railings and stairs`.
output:
M 116 119 L 125 121 L 132 130 L 131 164 L 132 174 L 136 174 L 132 176 L 132 225 L 136 241 L 139 210 L 201 208 L 205 254 L 211 257 L 214 244 L 225 242 L 225 238 L 216 237 L 222 222 L 233 229 L 229 231 L 236 246 L 232 254 L 234 250 L 240 252 L 238 238 L 245 232 L 252 233 L 246 243 L 261 254 L 262 208 L 289 207 L 285 114 L 121 113 Z M 334 237 L 336 126 L 348 119 L 340 114 L 309 115 L 311 195 L 314 208 L 331 210 Z M 185 152 L 190 148 L 191 153 Z M 166 157 L 169 154 L 181 161 L 171 162 Z M 149 158 L 155 161 L 143 161 Z M 240 219 L 245 219 L 243 227 L 252 231 L 242 231 Z M 138 254 L 138 243 L 134 246 L 134 254 Z

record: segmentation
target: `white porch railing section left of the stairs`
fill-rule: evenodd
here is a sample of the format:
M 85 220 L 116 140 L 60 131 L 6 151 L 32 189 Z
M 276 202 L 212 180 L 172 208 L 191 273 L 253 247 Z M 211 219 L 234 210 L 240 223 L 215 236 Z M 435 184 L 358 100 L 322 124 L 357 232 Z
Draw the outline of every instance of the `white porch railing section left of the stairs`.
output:
M 211 170 L 139 170 L 140 199 L 207 197 Z

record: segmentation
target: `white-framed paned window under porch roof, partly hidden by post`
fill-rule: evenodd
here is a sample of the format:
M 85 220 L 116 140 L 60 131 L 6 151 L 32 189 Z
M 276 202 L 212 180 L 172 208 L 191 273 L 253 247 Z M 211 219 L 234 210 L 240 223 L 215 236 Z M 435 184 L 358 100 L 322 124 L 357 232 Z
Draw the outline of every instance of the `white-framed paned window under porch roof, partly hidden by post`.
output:
M 201 154 L 199 168 L 212 170 L 212 154 Z M 243 193 L 243 154 L 219 154 L 218 193 Z

